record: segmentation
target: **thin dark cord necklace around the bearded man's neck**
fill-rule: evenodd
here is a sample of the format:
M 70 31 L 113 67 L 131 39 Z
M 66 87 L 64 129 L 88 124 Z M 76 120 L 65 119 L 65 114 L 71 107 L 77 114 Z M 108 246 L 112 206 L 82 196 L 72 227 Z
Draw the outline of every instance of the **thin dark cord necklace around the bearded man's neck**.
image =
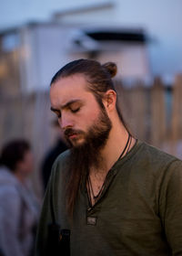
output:
M 132 141 L 132 136 L 130 133 L 128 133 L 128 138 L 127 138 L 127 141 L 126 141 L 126 145 L 125 145 L 125 148 L 124 150 L 121 152 L 121 155 L 119 155 L 118 159 L 116 160 L 116 162 L 126 153 L 129 152 L 129 148 L 130 148 L 130 145 L 131 145 L 131 141 Z M 98 193 L 94 194 L 94 190 L 93 190 L 93 187 L 92 187 L 92 182 L 91 182 L 91 179 L 90 179 L 90 176 L 88 175 L 87 177 L 87 187 L 88 187 L 88 197 L 89 197 L 89 200 L 90 202 L 92 202 L 92 197 L 94 199 L 94 202 L 96 203 L 96 200 L 100 197 L 104 187 L 105 187 L 105 184 L 106 184 L 106 177 L 105 177 L 105 180 L 103 182 L 103 185 L 102 187 L 99 189 Z M 91 203 L 92 204 L 92 203 Z

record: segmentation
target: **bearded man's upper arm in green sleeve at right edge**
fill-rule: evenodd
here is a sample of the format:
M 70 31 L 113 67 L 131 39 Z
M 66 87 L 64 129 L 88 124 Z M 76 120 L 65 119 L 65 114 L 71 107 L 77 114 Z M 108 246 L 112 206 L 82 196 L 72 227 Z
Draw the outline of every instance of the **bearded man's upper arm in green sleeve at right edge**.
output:
M 167 169 L 161 188 L 160 212 L 168 244 L 173 255 L 182 255 L 182 162 L 176 161 Z

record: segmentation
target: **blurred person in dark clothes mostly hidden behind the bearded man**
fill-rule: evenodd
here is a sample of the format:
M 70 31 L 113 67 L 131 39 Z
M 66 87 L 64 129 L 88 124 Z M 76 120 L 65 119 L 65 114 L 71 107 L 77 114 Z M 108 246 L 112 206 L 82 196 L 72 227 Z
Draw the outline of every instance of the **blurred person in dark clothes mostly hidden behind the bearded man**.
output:
M 67 149 L 67 145 L 63 138 L 64 135 L 62 130 L 60 129 L 57 119 L 52 122 L 52 125 L 56 130 L 56 144 L 50 149 L 50 151 L 47 152 L 47 154 L 45 155 L 45 159 L 42 163 L 42 179 L 44 190 L 47 186 L 49 176 L 51 174 L 52 165 L 55 162 L 56 157 Z

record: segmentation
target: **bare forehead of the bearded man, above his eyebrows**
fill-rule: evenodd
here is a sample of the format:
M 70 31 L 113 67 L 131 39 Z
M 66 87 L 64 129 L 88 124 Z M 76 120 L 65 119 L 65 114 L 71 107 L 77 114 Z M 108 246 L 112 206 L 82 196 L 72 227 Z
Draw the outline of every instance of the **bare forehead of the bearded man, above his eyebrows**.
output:
M 66 104 L 67 101 L 82 100 L 87 97 L 94 97 L 87 89 L 86 77 L 76 74 L 70 77 L 61 78 L 51 85 L 50 100 L 56 104 Z

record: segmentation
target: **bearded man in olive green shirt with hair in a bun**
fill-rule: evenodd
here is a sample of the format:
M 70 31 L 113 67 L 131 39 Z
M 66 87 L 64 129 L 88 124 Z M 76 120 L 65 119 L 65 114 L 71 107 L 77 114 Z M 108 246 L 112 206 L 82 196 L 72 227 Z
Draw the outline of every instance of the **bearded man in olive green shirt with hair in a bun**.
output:
M 115 75 L 112 62 L 78 59 L 51 81 L 71 150 L 53 167 L 37 255 L 182 255 L 182 163 L 129 133 Z

